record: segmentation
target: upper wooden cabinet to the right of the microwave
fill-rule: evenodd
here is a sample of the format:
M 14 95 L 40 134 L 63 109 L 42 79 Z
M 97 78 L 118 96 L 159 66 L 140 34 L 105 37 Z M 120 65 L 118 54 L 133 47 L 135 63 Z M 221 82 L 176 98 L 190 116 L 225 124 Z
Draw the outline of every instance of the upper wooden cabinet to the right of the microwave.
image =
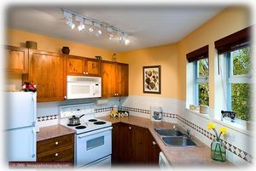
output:
M 102 60 L 102 97 L 128 96 L 128 64 Z

